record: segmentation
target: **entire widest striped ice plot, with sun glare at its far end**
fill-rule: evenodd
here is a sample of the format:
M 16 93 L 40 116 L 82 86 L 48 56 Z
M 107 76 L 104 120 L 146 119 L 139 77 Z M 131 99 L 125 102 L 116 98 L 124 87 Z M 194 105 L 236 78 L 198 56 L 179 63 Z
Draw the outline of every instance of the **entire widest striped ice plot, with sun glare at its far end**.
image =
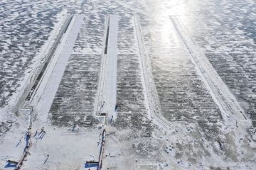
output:
M 214 137 L 218 122 L 222 121 L 220 109 L 175 29 L 171 23 L 165 25 L 170 25 L 166 37 L 161 36 L 162 28 L 157 27 L 144 35 L 161 113 L 171 122 L 197 123 L 204 135 Z

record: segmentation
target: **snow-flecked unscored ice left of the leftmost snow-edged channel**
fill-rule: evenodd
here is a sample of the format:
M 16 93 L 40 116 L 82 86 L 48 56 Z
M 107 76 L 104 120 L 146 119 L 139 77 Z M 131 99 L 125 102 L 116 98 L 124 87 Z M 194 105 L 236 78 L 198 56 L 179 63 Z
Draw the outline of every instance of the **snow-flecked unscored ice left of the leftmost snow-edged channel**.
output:
M 36 54 L 60 20 L 61 6 L 51 1 L 0 2 L 1 108 L 11 102 L 26 74 L 31 73 Z

